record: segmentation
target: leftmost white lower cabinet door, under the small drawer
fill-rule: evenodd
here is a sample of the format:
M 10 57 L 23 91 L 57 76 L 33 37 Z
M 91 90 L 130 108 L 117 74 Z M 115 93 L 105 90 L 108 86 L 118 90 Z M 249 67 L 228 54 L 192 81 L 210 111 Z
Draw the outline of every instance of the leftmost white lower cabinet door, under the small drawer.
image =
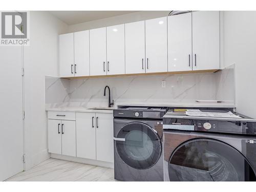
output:
M 61 154 L 61 121 L 48 120 L 48 152 Z

